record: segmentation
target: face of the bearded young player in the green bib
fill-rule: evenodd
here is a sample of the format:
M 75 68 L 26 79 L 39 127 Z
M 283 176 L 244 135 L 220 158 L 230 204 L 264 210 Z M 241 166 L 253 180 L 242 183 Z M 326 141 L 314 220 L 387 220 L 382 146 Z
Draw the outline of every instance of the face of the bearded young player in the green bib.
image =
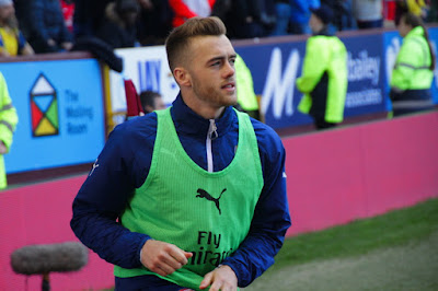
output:
M 235 51 L 227 36 L 198 36 L 189 46 L 192 90 L 201 104 L 222 107 L 237 103 Z

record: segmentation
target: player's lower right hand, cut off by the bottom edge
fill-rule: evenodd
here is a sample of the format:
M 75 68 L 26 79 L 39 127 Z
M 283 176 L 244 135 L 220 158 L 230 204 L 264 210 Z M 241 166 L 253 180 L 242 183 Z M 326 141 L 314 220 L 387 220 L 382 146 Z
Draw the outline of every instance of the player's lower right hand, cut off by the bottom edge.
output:
M 229 266 L 222 265 L 204 276 L 199 288 L 206 289 L 209 286 L 211 286 L 209 291 L 235 291 L 238 290 L 238 277 Z

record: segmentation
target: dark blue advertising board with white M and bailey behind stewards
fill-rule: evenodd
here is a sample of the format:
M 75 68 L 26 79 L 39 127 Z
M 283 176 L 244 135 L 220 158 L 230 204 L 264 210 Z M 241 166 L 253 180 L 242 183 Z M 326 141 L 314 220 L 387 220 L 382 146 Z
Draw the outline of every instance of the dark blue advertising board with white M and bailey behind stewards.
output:
M 436 49 L 438 27 L 429 28 Z M 397 32 L 341 37 L 348 51 L 348 90 L 346 117 L 383 113 L 391 109 L 389 80 L 401 46 Z M 306 40 L 237 46 L 253 74 L 254 91 L 262 95 L 262 113 L 273 128 L 287 128 L 312 123 L 297 110 L 302 98 L 295 83 L 300 77 L 306 55 Z M 435 71 L 438 77 L 438 69 Z M 437 78 L 433 94 L 438 104 Z

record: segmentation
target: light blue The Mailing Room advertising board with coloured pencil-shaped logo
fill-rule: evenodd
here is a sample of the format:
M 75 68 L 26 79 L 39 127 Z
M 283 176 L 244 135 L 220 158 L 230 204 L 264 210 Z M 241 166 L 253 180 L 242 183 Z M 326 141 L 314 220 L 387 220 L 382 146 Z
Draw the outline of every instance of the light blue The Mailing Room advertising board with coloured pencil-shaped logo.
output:
M 19 114 L 8 174 L 93 162 L 105 142 L 102 77 L 95 59 L 3 62 Z

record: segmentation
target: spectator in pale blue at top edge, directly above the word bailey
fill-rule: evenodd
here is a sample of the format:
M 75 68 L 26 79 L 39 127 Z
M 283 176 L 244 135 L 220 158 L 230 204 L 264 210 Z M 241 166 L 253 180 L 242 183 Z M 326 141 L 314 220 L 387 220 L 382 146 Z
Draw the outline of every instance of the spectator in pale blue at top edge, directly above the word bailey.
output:
M 383 27 L 383 2 L 353 0 L 353 15 L 359 30 Z

